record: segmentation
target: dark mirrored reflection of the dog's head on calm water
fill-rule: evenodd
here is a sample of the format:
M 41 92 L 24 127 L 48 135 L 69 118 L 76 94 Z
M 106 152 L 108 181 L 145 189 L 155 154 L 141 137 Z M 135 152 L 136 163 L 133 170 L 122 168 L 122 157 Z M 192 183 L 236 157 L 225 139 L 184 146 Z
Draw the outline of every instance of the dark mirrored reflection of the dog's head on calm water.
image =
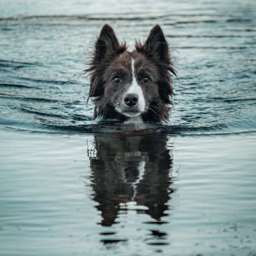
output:
M 129 136 L 95 135 L 88 150 L 92 170 L 93 200 L 102 214 L 101 225 L 116 223 L 118 213 L 127 212 L 127 202 L 136 202 L 138 213 L 161 221 L 166 215 L 173 165 L 172 148 L 163 134 Z

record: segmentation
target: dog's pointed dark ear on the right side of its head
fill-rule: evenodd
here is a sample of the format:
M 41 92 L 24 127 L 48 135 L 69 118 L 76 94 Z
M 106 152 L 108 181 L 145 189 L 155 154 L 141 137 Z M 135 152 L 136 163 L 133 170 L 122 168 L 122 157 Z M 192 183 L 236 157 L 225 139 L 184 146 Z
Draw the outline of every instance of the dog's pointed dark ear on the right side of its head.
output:
M 169 46 L 159 25 L 151 29 L 144 47 L 147 51 L 156 53 L 160 58 L 168 56 Z

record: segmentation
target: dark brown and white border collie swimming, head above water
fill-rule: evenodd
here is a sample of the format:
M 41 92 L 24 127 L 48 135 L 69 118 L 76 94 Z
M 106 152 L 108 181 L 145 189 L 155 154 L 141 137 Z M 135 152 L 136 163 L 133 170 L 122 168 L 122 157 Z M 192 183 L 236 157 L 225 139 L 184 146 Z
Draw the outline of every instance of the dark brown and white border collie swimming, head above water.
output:
M 160 26 L 151 29 L 135 49 L 116 38 L 108 24 L 97 38 L 90 67 L 90 93 L 94 120 L 125 123 L 168 121 L 172 104 L 172 76 L 176 76 L 170 47 Z

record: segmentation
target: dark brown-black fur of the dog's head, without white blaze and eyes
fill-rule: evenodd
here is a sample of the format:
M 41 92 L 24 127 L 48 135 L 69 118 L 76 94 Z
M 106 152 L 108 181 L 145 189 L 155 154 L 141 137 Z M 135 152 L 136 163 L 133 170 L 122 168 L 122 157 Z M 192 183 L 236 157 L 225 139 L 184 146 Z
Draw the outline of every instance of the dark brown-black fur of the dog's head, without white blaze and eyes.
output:
M 147 106 L 141 113 L 142 120 L 168 120 L 173 95 L 172 76 L 176 76 L 176 72 L 162 29 L 158 25 L 154 26 L 145 43 L 136 42 L 134 51 L 129 52 L 127 46 L 118 41 L 113 28 L 107 24 L 95 42 L 90 67 L 84 70 L 90 72 L 89 98 L 92 97 L 95 104 L 94 119 L 119 122 L 129 119 L 116 111 L 120 97 L 131 85 L 129 76 L 127 75 L 122 86 L 112 86 L 110 79 L 116 70 L 122 69 L 124 74 L 131 73 L 131 59 L 135 61 L 136 72 L 147 68 L 150 76 L 154 77 L 152 84 L 140 84 Z

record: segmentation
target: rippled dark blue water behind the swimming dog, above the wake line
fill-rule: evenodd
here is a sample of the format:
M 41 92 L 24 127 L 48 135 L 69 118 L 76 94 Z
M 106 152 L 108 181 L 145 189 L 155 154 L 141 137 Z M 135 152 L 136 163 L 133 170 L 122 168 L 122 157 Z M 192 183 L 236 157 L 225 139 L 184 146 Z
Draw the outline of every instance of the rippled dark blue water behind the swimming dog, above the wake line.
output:
M 130 47 L 134 38 L 143 40 L 149 29 L 159 23 L 175 49 L 179 81 L 175 79 L 173 84 L 172 127 L 165 127 L 166 132 L 255 131 L 253 1 L 200 4 L 163 1 L 156 10 L 149 6 L 152 10 L 145 13 L 139 8 L 142 3 L 132 1 L 124 6 L 116 4 L 111 12 L 103 7 L 96 10 L 95 3 L 81 1 L 65 3 L 70 10 L 65 9 L 65 4 L 63 10 L 52 6 L 48 13 L 48 5 L 33 3 L 20 1 L 18 7 L 4 2 L 1 8 L 0 124 L 3 127 L 92 132 L 93 104 L 89 102 L 86 106 L 88 77 L 81 72 L 86 68 L 95 36 L 108 22 Z

